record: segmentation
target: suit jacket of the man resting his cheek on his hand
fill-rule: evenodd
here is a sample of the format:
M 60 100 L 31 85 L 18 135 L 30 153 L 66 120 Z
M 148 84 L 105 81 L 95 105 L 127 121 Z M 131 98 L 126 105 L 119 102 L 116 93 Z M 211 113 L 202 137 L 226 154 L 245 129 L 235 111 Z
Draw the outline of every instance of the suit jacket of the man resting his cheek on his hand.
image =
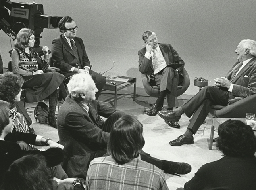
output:
M 181 57 L 179 57 L 179 54 L 177 53 L 177 51 L 175 49 L 173 49 L 173 47 L 171 46 L 171 44 L 158 44 L 160 47 L 160 50 L 164 56 L 164 60 L 166 61 L 166 65 L 169 64 L 173 64 L 173 63 L 181 63 L 183 64 L 181 67 L 179 67 L 178 73 L 180 74 L 180 71 L 183 69 L 184 67 L 184 61 L 181 59 Z M 142 48 L 139 52 L 139 71 L 141 73 L 146 73 L 147 76 L 150 76 L 150 78 L 152 78 L 153 74 L 154 74 L 154 69 L 153 69 L 153 63 L 152 63 L 152 58 L 148 59 L 145 57 L 145 53 L 146 53 L 146 47 Z

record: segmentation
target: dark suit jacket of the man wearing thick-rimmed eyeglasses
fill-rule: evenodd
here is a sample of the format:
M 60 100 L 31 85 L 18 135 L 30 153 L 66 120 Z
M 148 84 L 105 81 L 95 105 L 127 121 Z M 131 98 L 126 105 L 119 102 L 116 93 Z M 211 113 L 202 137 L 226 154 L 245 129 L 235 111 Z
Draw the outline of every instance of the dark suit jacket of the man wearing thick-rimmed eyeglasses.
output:
M 75 37 L 74 41 L 77 46 L 80 63 L 82 64 L 81 69 L 85 66 L 90 67 L 90 61 L 86 54 L 83 40 Z M 77 58 L 69 46 L 64 34 L 61 34 L 58 38 L 55 38 L 52 41 L 52 60 L 54 61 L 54 67 L 60 68 L 62 73 L 68 73 L 72 67 L 77 68 Z

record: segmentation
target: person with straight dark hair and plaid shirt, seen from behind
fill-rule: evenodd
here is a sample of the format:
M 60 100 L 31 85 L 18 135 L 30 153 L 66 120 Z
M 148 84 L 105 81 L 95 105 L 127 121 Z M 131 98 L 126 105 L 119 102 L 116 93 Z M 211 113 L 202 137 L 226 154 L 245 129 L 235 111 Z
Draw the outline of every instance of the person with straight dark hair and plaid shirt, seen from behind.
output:
M 94 158 L 87 177 L 87 190 L 167 190 L 162 170 L 142 161 L 140 152 L 145 144 L 142 124 L 133 116 L 115 122 L 108 144 L 111 156 Z

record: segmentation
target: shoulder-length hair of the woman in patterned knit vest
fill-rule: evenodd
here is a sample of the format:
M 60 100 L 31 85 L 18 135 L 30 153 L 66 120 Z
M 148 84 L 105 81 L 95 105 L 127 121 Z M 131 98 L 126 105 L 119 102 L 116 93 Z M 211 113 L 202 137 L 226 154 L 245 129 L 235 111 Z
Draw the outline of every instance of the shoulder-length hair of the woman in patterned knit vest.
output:
M 35 35 L 35 32 L 31 29 L 22 28 L 19 30 L 14 42 L 14 47 L 21 50 L 25 49 L 29 45 L 29 38 L 31 35 Z

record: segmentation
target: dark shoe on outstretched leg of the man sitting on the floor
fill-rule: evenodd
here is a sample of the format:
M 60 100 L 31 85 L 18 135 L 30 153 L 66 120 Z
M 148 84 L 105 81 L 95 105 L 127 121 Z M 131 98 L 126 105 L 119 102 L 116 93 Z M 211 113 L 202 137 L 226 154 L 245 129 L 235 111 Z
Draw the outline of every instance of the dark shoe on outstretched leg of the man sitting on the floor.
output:
M 163 160 L 164 173 L 187 174 L 191 172 L 191 165 L 184 162 L 173 162 Z

